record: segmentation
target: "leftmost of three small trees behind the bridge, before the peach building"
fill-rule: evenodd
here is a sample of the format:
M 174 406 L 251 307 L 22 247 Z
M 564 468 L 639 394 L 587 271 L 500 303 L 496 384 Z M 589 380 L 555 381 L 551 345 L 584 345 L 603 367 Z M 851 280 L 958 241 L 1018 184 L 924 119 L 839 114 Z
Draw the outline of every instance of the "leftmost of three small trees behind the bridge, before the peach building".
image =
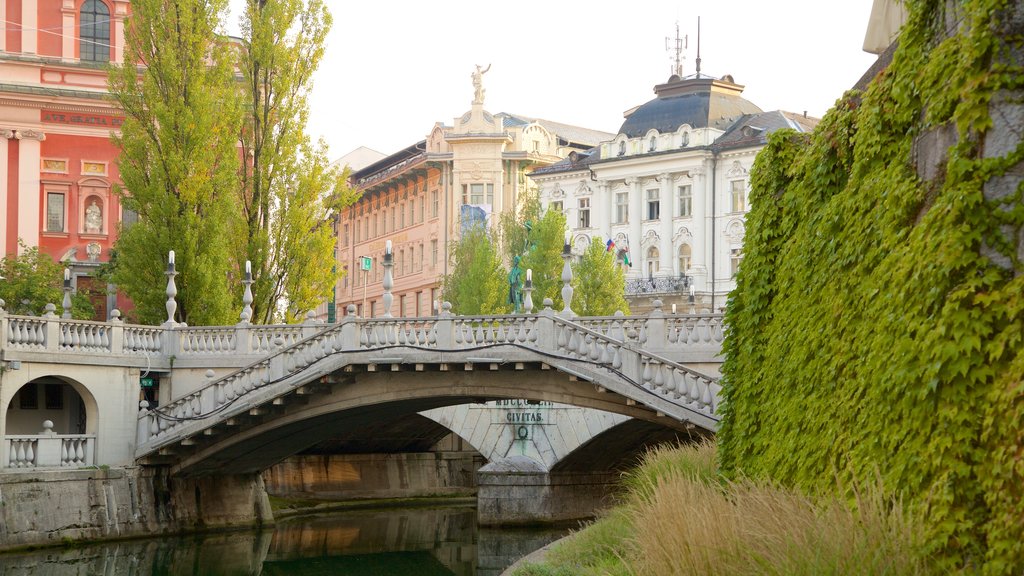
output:
M 508 279 L 494 239 L 474 227 L 452 246 L 452 274 L 441 284 L 452 312 L 463 316 L 508 314 Z

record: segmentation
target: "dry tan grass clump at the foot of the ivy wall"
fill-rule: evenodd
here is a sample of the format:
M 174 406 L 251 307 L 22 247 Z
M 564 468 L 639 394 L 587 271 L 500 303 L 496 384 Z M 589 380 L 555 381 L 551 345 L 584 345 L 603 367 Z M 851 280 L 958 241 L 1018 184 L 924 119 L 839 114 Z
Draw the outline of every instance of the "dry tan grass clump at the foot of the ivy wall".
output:
M 629 507 L 628 563 L 638 575 L 933 573 L 921 519 L 881 486 L 858 492 L 850 505 L 766 483 L 670 471 Z

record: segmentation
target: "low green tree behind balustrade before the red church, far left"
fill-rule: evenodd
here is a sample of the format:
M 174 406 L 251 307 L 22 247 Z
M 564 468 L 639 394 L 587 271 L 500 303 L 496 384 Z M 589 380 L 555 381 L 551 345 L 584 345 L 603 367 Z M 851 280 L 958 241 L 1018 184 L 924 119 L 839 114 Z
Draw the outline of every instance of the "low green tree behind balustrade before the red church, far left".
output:
M 38 247 L 22 247 L 17 256 L 0 259 L 0 299 L 6 303 L 8 314 L 41 316 L 46 304 L 56 306 L 56 314 L 62 313 L 63 266 L 53 261 Z M 75 292 L 71 298 L 72 316 L 81 320 L 91 320 L 94 315 L 89 294 Z

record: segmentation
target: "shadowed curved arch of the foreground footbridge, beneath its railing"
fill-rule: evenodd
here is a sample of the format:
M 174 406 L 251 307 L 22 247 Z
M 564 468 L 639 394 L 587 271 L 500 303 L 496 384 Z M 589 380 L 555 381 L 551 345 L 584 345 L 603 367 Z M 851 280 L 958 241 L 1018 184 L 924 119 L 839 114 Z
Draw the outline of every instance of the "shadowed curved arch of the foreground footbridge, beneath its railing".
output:
M 182 476 L 255 472 L 284 458 L 325 441 L 349 435 L 382 421 L 411 417 L 426 410 L 492 400 L 526 399 L 584 408 L 596 408 L 676 426 L 687 424 L 631 403 L 599 385 L 573 379 L 574 376 L 540 363 L 524 364 L 522 370 L 479 371 L 407 370 L 381 372 L 337 372 L 351 359 L 337 356 L 326 359 L 315 374 L 337 378 L 316 394 L 307 390 L 301 401 L 289 405 L 283 414 L 263 414 L 253 407 L 236 418 L 214 423 L 209 431 L 199 430 L 190 438 L 180 435 L 165 443 L 164 458 L 173 460 L 173 471 Z M 399 367 L 399 365 L 394 365 Z M 543 368 L 542 368 L 543 366 Z M 412 368 L 412 367 L 407 367 Z M 294 389 L 294 388 L 293 388 Z M 271 399 L 265 399 L 272 405 Z M 256 414 L 253 419 L 249 416 Z M 272 417 L 267 417 L 272 416 Z M 486 456 L 486 455 L 485 455 Z M 162 456 L 147 458 L 160 463 Z

